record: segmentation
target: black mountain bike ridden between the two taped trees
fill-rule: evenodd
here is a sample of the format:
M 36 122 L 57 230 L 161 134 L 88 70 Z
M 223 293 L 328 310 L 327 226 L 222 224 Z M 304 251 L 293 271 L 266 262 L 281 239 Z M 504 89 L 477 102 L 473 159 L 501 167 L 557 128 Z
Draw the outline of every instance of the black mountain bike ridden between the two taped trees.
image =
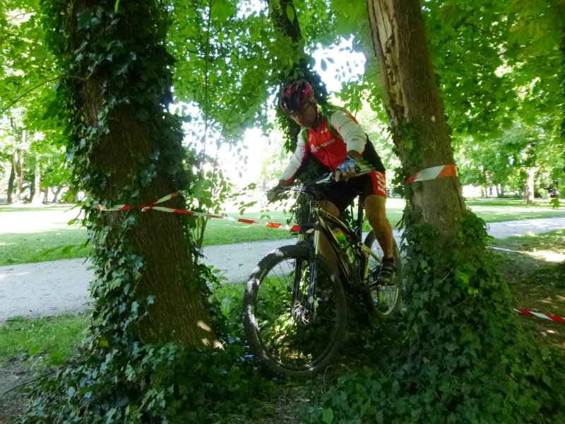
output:
M 345 334 L 348 300 L 361 299 L 382 319 L 391 319 L 400 308 L 402 264 L 396 242 L 396 279 L 379 285 L 383 251 L 372 230 L 362 241 L 362 202 L 357 201 L 355 228 L 320 206 L 319 187 L 332 180 L 330 173 L 287 187 L 287 192 L 306 198 L 307 222 L 298 225 L 297 244 L 267 254 L 246 286 L 246 339 L 262 365 L 277 374 L 306 377 L 331 362 Z M 319 254 L 322 233 L 335 253 L 339 273 Z

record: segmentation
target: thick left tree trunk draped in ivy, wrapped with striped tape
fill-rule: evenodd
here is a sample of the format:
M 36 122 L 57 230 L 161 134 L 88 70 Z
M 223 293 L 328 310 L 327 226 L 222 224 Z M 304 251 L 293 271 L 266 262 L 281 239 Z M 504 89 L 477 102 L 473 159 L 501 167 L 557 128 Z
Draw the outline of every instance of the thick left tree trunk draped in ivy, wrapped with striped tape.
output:
M 131 323 L 129 331 L 145 343 L 210 348 L 218 341 L 201 300 L 186 224 L 178 215 L 137 207 L 191 183 L 180 122 L 167 112 L 172 58 L 163 44 L 164 12 L 151 0 L 122 2 L 119 13 L 117 5 L 52 2 L 60 16 L 52 45 L 71 69 L 65 89 L 74 177 L 90 196 L 95 317 L 109 326 L 102 333 Z M 134 208 L 97 211 L 97 204 Z

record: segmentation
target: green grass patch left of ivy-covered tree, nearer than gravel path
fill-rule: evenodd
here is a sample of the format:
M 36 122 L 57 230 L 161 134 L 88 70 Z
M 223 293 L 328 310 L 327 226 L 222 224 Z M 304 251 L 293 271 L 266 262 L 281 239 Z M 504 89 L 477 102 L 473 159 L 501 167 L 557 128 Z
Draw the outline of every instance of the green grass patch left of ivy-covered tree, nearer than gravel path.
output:
M 88 323 L 85 314 L 8 319 L 0 324 L 0 366 L 38 355 L 60 364 L 76 353 Z

